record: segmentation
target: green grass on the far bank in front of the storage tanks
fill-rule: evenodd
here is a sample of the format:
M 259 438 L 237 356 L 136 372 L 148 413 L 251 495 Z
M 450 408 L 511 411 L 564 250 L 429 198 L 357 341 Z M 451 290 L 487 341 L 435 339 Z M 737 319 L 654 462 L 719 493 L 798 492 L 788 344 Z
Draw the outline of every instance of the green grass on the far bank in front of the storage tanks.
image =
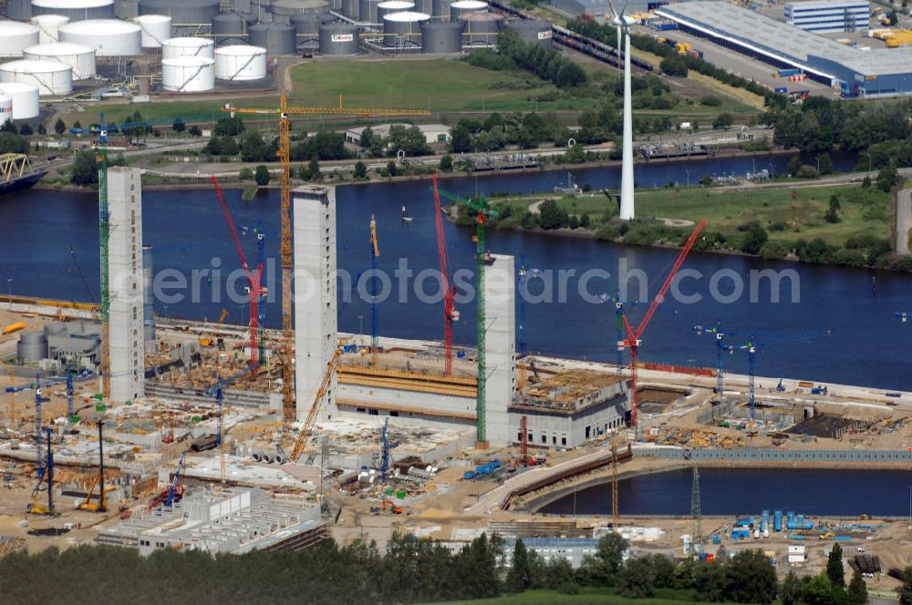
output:
M 616 70 L 609 70 L 603 64 L 581 61 L 581 65 L 596 84 L 617 77 Z M 420 108 L 430 109 L 432 113 L 551 110 L 575 113 L 597 105 L 597 99 L 579 97 L 573 91 L 561 93 L 541 78 L 521 70 L 492 71 L 455 59 L 308 62 L 292 67 L 291 79 L 293 91 L 289 104 L 292 106 L 336 107 L 340 93 L 345 106 L 350 108 Z M 668 110 L 644 109 L 642 115 L 710 118 L 721 111 L 735 114 L 754 111 L 740 99 L 718 92 L 720 106 L 705 107 L 700 105 L 699 98 L 691 98 L 692 103 L 682 100 Z M 174 97 L 174 100 L 145 104 L 106 105 L 105 111 L 109 120 L 118 122 L 136 111 L 150 120 L 170 121 L 181 117 L 187 123 L 211 122 L 219 117 L 225 99 L 231 97 L 230 94 L 194 100 Z M 242 108 L 271 108 L 277 105 L 277 98 L 268 94 L 242 96 L 235 97 L 233 102 Z M 553 100 L 544 100 L 548 98 Z M 67 125 L 77 119 L 85 126 L 97 121 L 98 115 L 92 110 L 72 112 L 67 115 Z

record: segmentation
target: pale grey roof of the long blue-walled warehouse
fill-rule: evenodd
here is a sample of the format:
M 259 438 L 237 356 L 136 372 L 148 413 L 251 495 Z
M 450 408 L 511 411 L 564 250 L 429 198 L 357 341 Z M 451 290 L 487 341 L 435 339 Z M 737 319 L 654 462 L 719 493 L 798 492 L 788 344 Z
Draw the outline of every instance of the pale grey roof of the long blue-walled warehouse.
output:
M 871 76 L 912 72 L 909 62 L 912 51 L 859 50 L 727 2 L 684 2 L 662 6 L 656 13 L 825 77 L 834 74 L 828 73 L 825 64 L 816 59 L 836 62 Z

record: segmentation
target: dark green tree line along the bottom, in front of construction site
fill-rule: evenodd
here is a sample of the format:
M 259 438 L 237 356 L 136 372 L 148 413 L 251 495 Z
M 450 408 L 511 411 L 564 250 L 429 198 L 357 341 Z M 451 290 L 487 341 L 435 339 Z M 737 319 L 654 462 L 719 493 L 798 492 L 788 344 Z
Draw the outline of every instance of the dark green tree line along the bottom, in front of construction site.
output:
M 17 551 L 0 559 L 2 603 L 70 602 L 73 595 L 116 595 L 119 602 L 180 600 L 197 605 L 223 602 L 346 605 L 496 598 L 530 589 L 579 592 L 615 590 L 646 599 L 657 590 L 678 590 L 690 600 L 770 605 L 862 605 L 865 583 L 855 573 L 846 585 L 842 551 L 835 544 L 826 570 L 779 582 L 770 559 L 742 550 L 711 562 L 675 561 L 661 554 L 629 556 L 627 540 L 607 534 L 596 555 L 578 569 L 563 558 L 545 560 L 516 540 L 511 563 L 503 539 L 484 534 L 460 552 L 430 539 L 396 536 L 385 552 L 371 543 L 340 547 L 333 540 L 300 552 L 210 557 L 200 551 L 158 550 L 140 557 L 133 549 L 78 546 L 64 551 Z M 912 568 L 903 580 L 901 605 L 912 605 Z

